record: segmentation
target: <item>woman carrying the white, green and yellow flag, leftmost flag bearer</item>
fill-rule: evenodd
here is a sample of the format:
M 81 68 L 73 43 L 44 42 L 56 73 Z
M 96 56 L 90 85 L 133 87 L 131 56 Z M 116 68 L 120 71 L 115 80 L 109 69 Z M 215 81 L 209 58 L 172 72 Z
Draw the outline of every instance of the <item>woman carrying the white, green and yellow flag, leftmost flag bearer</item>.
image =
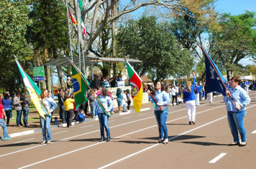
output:
M 41 145 L 47 143 L 49 145 L 52 140 L 52 133 L 50 131 L 50 121 L 52 120 L 51 113 L 56 109 L 57 104 L 52 99 L 52 97 L 48 97 L 48 90 L 43 89 L 41 92 L 41 100 L 42 103 L 45 105 L 46 108 L 46 115 L 45 119 L 40 116 L 40 122 L 42 126 L 42 143 Z M 46 137 L 46 130 L 47 130 L 47 137 Z

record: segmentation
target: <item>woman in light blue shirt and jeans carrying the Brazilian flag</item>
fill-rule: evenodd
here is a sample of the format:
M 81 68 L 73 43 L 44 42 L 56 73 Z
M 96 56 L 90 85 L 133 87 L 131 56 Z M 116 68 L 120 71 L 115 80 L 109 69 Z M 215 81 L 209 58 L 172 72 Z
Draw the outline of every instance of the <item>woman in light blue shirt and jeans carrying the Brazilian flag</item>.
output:
M 113 108 L 113 102 L 109 97 L 109 94 L 105 87 L 101 87 L 101 95 L 99 95 L 98 98 L 99 98 L 99 101 L 101 102 L 99 103 L 99 101 L 96 100 L 96 112 L 98 113 L 99 126 L 101 130 L 100 142 L 103 142 L 105 140 L 104 128 L 106 130 L 106 137 L 107 137 L 106 142 L 109 142 L 110 141 L 109 116 L 106 115 L 104 110 L 106 112 L 110 112 L 110 110 Z

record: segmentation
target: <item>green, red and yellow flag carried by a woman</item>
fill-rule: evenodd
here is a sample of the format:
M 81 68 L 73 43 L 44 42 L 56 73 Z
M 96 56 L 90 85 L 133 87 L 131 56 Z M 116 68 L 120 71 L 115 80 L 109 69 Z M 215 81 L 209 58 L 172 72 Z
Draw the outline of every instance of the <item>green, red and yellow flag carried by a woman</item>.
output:
M 132 66 L 127 61 L 127 72 L 129 76 L 129 82 L 132 87 L 132 100 L 134 104 L 134 110 L 140 112 L 140 107 L 142 107 L 142 97 L 143 97 L 143 84 L 142 79 L 134 71 Z

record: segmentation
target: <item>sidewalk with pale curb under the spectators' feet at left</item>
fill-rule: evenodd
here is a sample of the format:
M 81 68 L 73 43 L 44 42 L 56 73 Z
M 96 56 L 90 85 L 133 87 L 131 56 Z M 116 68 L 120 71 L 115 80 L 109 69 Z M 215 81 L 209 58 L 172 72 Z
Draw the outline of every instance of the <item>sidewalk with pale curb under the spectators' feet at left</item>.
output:
M 149 108 L 150 109 L 153 109 L 153 105 L 151 102 L 148 102 L 148 103 L 144 103 L 142 104 L 142 109 L 144 108 Z M 121 107 L 121 110 L 122 110 L 122 107 Z M 117 116 L 117 115 L 127 115 L 129 113 L 134 113 L 134 107 L 132 105 L 132 107 L 130 107 L 130 112 L 121 112 L 121 113 L 118 113 L 118 109 L 117 107 L 114 108 L 114 114 L 111 115 L 111 117 L 114 117 L 114 116 Z M 35 117 L 35 118 L 38 118 L 39 115 L 37 112 L 29 112 L 29 117 Z M 55 125 L 55 117 L 58 117 L 58 124 L 59 125 Z M 95 121 L 95 120 L 98 120 L 98 117 L 96 118 L 91 118 L 90 115 L 86 115 L 86 121 L 85 122 L 91 122 L 91 121 Z M 73 122 L 72 125 L 75 125 L 75 123 Z M 66 124 L 63 124 L 60 117 L 59 117 L 59 110 L 58 108 L 56 108 L 56 110 L 54 111 L 53 115 L 52 115 L 52 123 L 51 123 L 51 128 L 55 128 L 55 127 L 66 127 L 67 125 Z M 15 123 L 12 123 L 12 124 L 9 124 L 9 126 L 7 127 L 7 130 L 8 130 L 8 134 L 9 136 L 12 138 L 12 137 L 17 137 L 17 136 L 21 136 L 21 135 L 29 135 L 29 134 L 32 134 L 32 133 L 35 133 L 35 132 L 41 132 L 42 129 L 40 127 L 40 121 L 39 119 L 36 120 L 36 121 L 33 121 L 33 122 L 29 122 L 29 127 L 17 127 L 16 125 L 16 122 Z M 2 129 L 0 130 L 0 135 L 3 135 L 2 133 Z

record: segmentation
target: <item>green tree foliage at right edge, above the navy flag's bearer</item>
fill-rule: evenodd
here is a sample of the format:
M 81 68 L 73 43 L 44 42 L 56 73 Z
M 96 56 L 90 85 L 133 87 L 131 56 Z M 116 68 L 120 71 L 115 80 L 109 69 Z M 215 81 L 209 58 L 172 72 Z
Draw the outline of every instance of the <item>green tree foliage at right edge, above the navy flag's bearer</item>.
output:
M 239 69 L 239 61 L 244 58 L 256 59 L 255 12 L 232 16 L 223 14 L 219 19 L 220 29 L 210 34 L 211 54 L 219 65 L 229 72 Z

